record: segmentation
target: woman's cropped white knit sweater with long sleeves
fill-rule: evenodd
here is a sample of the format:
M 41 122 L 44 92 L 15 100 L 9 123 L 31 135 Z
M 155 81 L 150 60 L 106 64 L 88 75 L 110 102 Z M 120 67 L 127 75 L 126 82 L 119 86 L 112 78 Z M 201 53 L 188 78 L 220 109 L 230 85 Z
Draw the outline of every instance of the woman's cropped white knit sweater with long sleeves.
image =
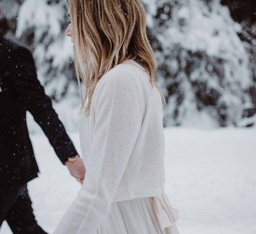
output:
M 79 135 L 86 175 L 55 234 L 91 234 L 114 201 L 164 192 L 163 107 L 149 74 L 134 61 L 105 74 L 81 114 Z M 151 91 L 151 92 L 150 92 Z

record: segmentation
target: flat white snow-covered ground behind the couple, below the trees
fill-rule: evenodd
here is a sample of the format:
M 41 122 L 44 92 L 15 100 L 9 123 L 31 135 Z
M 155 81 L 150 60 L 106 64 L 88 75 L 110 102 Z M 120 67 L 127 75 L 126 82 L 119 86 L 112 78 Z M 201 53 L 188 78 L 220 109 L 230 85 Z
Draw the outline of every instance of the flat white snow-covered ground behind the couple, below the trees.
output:
M 70 134 L 79 147 L 78 134 Z M 34 214 L 52 233 L 80 184 L 42 134 L 31 136 L 41 174 L 29 182 Z M 256 233 L 256 129 L 165 128 L 166 194 L 181 234 Z M 9 234 L 6 223 L 0 234 Z

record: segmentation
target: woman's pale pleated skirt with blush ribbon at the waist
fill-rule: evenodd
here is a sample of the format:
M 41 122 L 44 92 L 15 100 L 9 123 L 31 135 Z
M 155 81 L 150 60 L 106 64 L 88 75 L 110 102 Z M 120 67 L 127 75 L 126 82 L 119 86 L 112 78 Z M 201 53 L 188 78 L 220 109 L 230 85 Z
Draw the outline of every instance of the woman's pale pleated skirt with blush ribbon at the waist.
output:
M 179 234 L 179 211 L 165 193 L 146 198 L 116 201 L 96 234 Z

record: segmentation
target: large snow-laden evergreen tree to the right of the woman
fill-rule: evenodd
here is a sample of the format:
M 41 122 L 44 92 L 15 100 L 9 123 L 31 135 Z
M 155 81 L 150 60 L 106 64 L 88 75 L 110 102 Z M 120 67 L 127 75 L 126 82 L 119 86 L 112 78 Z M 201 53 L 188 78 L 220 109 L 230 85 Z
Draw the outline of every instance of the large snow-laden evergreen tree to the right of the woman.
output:
M 241 26 L 218 0 L 145 1 L 168 104 L 165 125 L 237 125 L 251 106 Z

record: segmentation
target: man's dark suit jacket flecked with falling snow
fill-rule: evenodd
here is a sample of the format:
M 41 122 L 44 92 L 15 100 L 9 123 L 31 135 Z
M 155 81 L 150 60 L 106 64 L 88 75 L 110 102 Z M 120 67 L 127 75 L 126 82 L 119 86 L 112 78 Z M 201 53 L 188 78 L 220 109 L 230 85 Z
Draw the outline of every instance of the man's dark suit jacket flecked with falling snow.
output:
M 0 187 L 19 186 L 37 177 L 26 111 L 33 115 L 62 162 L 77 154 L 37 79 L 31 53 L 1 36 L 0 87 Z

